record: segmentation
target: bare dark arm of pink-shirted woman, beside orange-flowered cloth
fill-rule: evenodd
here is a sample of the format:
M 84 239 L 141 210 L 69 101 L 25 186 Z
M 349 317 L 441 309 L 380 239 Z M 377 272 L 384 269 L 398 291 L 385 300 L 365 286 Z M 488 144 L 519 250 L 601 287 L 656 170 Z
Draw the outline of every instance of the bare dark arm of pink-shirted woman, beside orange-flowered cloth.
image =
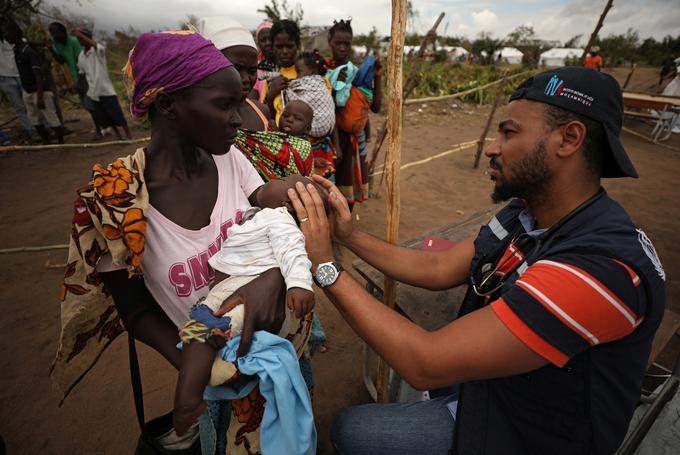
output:
M 179 369 L 181 351 L 177 327 L 163 312 L 144 284 L 144 279 L 128 277 L 127 270 L 100 274 L 109 290 L 125 328 L 135 339 L 155 349 Z

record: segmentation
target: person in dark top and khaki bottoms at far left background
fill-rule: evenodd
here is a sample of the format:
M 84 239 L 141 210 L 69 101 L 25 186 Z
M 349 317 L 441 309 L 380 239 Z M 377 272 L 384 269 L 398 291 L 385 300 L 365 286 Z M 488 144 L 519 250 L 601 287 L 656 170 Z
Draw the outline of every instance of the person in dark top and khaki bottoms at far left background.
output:
M 60 144 L 64 143 L 64 128 L 54 105 L 50 78 L 44 74 L 38 53 L 24 40 L 21 29 L 13 22 L 4 26 L 7 41 L 14 46 L 14 59 L 23 87 L 23 100 L 28 118 L 43 142 L 50 142 L 50 135 L 40 123 L 40 118 L 54 131 Z

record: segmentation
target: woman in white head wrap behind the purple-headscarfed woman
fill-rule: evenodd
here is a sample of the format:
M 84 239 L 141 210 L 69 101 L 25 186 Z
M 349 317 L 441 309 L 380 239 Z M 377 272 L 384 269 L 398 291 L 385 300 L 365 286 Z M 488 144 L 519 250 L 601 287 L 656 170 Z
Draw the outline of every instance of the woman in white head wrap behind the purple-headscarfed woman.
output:
M 198 21 L 196 30 L 222 51 L 241 76 L 241 127 L 251 131 L 268 131 L 269 107 L 248 98 L 257 82 L 257 47 L 253 35 L 231 18 L 206 17 Z

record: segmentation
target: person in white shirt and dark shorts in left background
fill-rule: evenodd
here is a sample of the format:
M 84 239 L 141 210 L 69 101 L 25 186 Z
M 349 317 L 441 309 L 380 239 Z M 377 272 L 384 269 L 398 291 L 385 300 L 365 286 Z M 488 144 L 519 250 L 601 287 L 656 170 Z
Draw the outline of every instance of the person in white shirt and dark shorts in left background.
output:
M 83 46 L 83 52 L 78 56 L 78 71 L 80 77 L 85 77 L 87 81 L 87 97 L 94 102 L 99 125 L 111 126 L 119 140 L 122 140 L 123 136 L 118 128 L 122 128 L 125 138 L 129 141 L 132 134 L 109 77 L 106 46 L 92 39 L 92 32 L 85 28 L 74 30 L 73 36 Z

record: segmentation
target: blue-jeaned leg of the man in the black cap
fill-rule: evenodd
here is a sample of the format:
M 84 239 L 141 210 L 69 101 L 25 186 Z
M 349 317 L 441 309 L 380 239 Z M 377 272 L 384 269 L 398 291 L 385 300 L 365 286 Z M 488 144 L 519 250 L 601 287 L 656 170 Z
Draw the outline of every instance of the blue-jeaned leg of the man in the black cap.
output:
M 447 454 L 455 420 L 446 405 L 456 398 L 345 409 L 331 429 L 333 447 L 340 455 Z

